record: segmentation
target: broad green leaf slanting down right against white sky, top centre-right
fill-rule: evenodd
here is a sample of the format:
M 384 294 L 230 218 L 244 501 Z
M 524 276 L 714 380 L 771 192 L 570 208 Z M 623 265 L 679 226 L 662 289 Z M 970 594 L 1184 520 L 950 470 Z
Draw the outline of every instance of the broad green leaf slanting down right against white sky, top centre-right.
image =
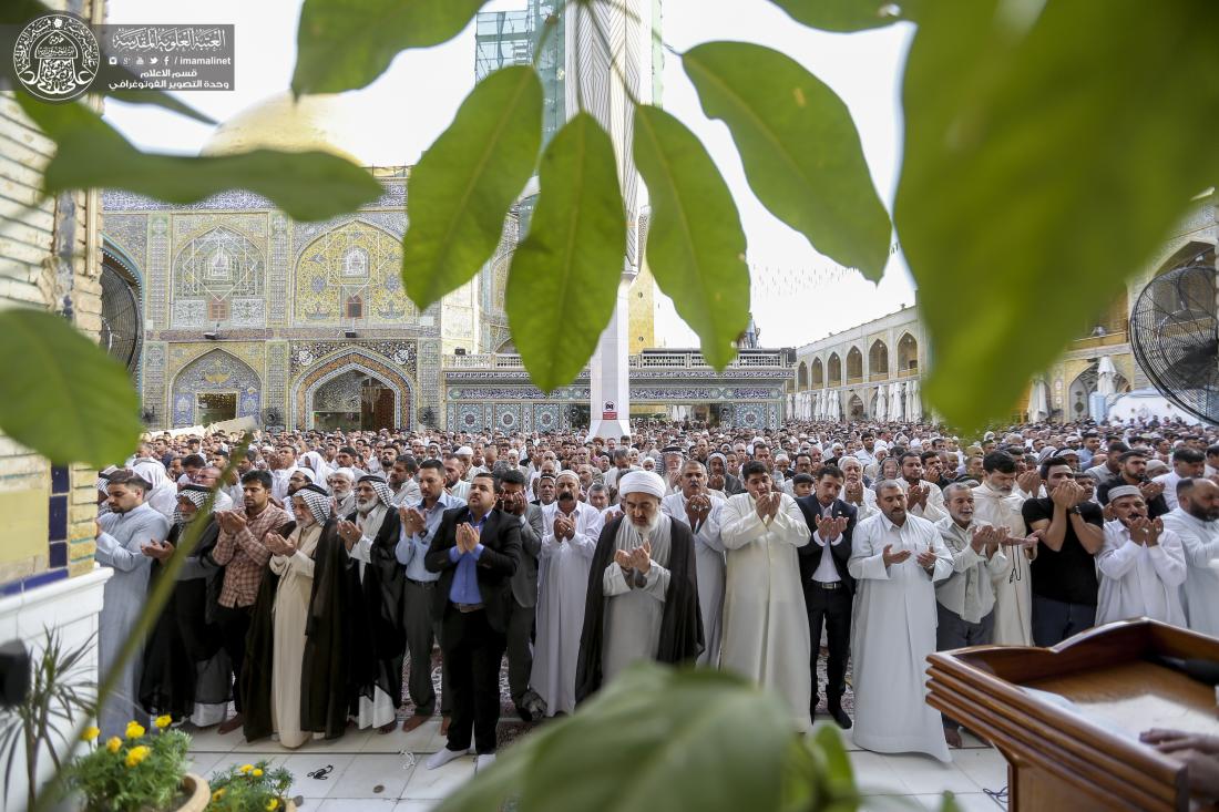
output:
M 703 112 L 731 130 L 758 200 L 818 251 L 879 280 L 892 229 L 842 100 L 790 56 L 751 43 L 698 45 L 681 63 Z

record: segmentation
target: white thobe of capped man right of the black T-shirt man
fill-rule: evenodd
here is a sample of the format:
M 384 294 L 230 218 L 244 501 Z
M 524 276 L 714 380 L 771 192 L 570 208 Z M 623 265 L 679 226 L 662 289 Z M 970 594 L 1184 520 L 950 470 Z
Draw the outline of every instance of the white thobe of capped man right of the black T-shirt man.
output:
M 1185 583 L 1185 550 L 1171 530 L 1154 546 L 1130 538 L 1118 521 L 1104 523 L 1104 544 L 1096 554 L 1101 590 L 1096 600 L 1096 624 L 1150 617 L 1185 627 L 1180 586 Z

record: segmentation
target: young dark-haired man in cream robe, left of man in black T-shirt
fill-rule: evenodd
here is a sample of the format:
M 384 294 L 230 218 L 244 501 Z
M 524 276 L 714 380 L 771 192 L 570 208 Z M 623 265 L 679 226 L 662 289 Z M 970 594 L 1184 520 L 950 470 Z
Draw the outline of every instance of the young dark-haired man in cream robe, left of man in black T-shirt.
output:
M 1015 460 L 1006 451 L 983 457 L 984 479 L 974 488 L 974 517 L 980 524 L 1007 530 L 1008 538 L 1025 536 L 1024 500 L 1015 494 Z M 947 496 L 945 496 L 947 500 Z M 951 511 L 950 511 L 951 513 Z M 940 519 L 941 523 L 944 519 Z M 1035 544 L 1008 550 L 998 567 L 991 567 L 995 617 L 991 641 L 1003 646 L 1032 645 L 1032 572 Z

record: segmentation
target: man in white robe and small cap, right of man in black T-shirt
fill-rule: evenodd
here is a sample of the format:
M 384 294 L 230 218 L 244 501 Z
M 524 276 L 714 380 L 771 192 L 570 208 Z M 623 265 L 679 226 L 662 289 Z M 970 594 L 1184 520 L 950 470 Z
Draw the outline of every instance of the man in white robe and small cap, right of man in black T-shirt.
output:
M 1114 519 L 1104 523 L 1104 545 L 1096 554 L 1101 572 L 1097 625 L 1146 616 L 1184 627 L 1180 536 L 1165 530 L 1159 518 L 1147 518 L 1147 502 L 1137 485 L 1111 488 L 1109 510 Z

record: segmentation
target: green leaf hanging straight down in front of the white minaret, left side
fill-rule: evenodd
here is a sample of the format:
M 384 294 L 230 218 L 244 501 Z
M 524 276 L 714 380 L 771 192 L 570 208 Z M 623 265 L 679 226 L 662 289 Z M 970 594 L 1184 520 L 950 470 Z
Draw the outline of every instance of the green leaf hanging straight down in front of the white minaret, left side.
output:
M 569 383 L 617 301 L 627 221 L 613 143 L 590 113 L 568 121 L 539 171 L 541 194 L 517 249 L 506 305 L 512 338 L 542 391 Z

